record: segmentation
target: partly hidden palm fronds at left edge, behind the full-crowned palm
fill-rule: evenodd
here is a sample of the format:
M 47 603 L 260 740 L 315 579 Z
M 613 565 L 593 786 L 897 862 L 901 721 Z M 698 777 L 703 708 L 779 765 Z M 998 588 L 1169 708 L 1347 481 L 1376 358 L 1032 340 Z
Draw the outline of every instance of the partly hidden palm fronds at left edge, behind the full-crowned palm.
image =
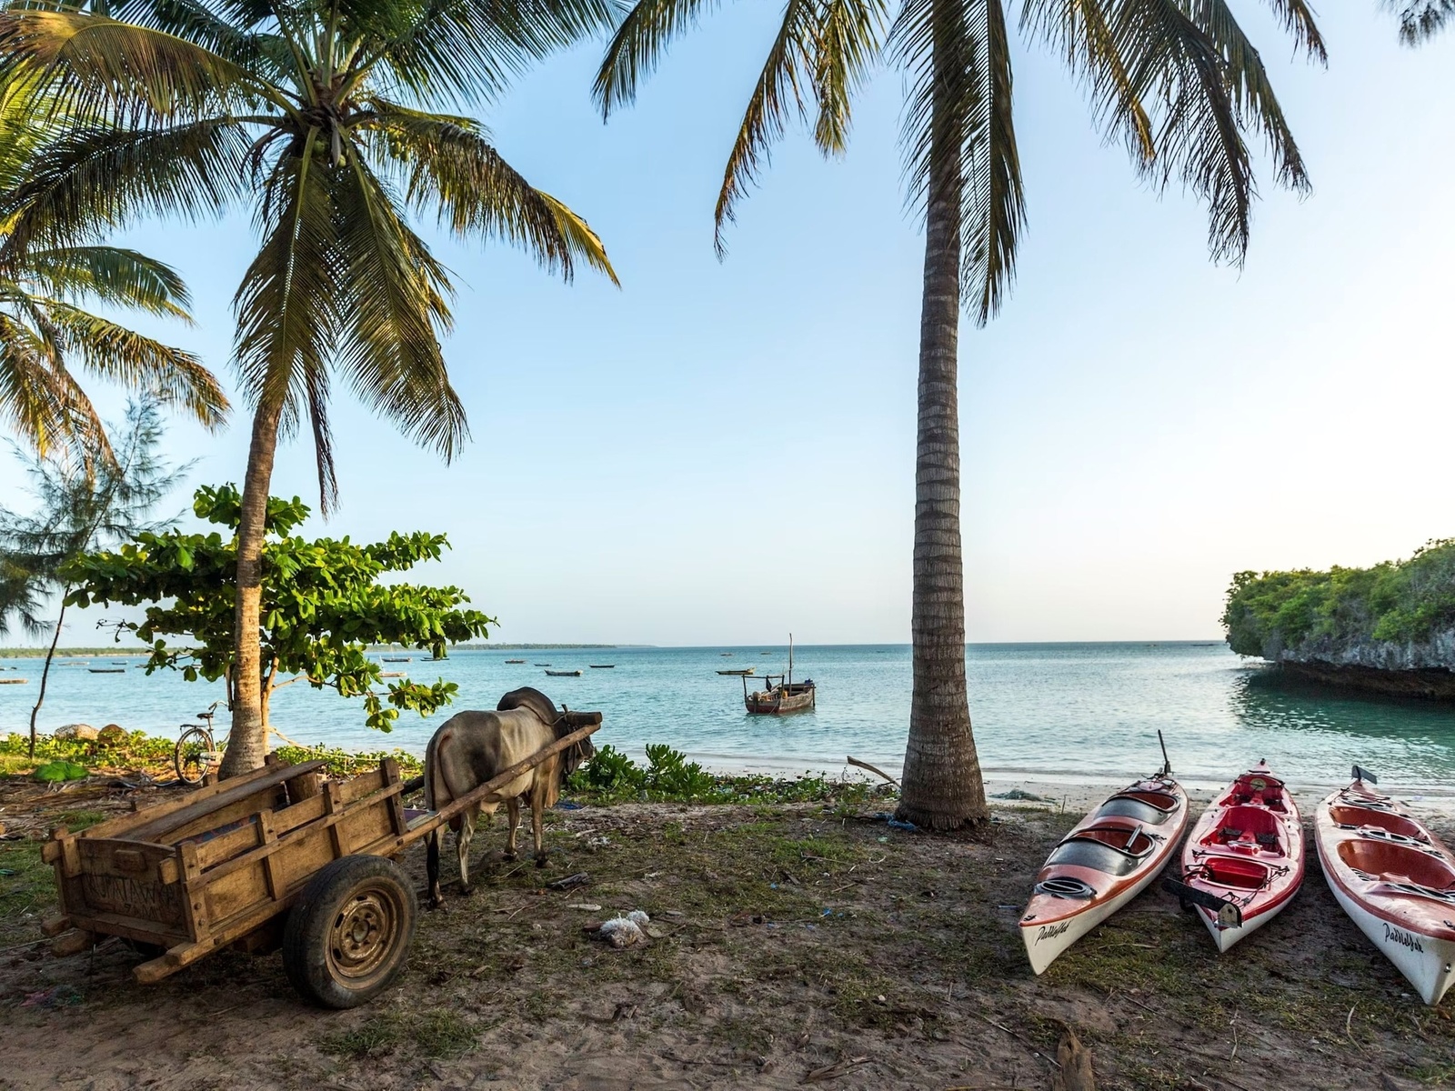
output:
M 44 97 L 0 83 L 0 191 L 13 192 L 38 150 L 63 129 Z M 218 428 L 227 397 L 196 356 L 135 333 L 81 304 L 99 303 L 191 323 L 186 285 L 162 262 L 115 246 L 9 247 L 0 217 L 0 420 L 45 457 L 52 447 L 111 454 L 73 368 L 132 393 L 180 404 Z

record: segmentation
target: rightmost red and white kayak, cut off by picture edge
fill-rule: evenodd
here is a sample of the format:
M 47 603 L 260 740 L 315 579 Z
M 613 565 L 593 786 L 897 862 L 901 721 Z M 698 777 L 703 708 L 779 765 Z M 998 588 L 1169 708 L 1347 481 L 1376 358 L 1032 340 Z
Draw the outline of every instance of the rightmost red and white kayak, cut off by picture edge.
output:
M 1314 810 L 1314 844 L 1334 899 L 1420 998 L 1455 980 L 1455 855 L 1368 770 Z

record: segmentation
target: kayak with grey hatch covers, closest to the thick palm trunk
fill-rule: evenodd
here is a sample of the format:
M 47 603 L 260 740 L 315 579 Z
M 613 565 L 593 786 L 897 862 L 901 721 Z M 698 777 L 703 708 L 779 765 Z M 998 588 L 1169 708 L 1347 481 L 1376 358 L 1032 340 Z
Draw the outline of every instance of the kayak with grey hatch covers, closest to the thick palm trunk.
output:
M 1036 873 L 1020 918 L 1030 969 L 1056 956 L 1131 902 L 1187 829 L 1187 793 L 1163 771 L 1112 794 L 1061 839 Z

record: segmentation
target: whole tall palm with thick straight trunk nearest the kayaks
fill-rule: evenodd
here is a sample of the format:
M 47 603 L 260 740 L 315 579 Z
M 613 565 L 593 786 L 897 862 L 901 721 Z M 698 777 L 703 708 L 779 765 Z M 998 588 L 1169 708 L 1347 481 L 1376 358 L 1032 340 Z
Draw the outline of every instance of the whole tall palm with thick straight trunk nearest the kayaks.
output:
M 1270 0 L 1295 42 L 1324 47 L 1304 0 Z M 602 113 L 629 103 L 671 41 L 714 4 L 637 0 L 597 77 Z M 1024 0 L 1020 28 L 1083 81 L 1136 172 L 1180 180 L 1209 209 L 1215 259 L 1241 262 L 1254 195 L 1248 132 L 1277 180 L 1308 182 L 1257 51 L 1224 0 Z M 879 60 L 906 81 L 904 147 L 924 214 L 914 535 L 914 695 L 899 816 L 949 829 L 988 818 L 965 684 L 957 352 L 962 305 L 998 310 L 1026 223 L 1001 0 L 786 0 L 728 156 L 717 246 L 768 145 L 812 111 L 825 154 L 844 148 L 854 92 Z

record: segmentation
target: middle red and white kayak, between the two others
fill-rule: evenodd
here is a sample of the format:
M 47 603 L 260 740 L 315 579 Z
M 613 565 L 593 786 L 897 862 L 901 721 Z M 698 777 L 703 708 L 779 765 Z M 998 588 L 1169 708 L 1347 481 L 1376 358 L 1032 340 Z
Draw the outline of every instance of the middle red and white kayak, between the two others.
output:
M 1232 781 L 1197 819 L 1181 868 L 1181 882 L 1203 895 L 1190 900 L 1219 951 L 1293 899 L 1304 884 L 1304 822 L 1267 762 Z M 1228 905 L 1237 912 L 1227 912 Z

